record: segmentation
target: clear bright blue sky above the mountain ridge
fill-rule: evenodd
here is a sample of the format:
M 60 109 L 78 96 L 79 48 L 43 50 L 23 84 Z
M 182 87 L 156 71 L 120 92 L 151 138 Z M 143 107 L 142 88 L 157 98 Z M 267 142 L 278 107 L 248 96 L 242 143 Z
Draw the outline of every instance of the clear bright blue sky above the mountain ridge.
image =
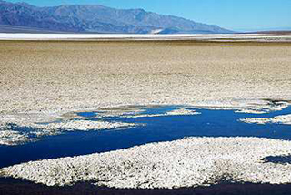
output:
M 19 2 L 19 0 L 6 0 Z M 291 0 L 22 0 L 51 6 L 99 4 L 115 8 L 143 8 L 164 15 L 177 15 L 233 30 L 291 30 Z

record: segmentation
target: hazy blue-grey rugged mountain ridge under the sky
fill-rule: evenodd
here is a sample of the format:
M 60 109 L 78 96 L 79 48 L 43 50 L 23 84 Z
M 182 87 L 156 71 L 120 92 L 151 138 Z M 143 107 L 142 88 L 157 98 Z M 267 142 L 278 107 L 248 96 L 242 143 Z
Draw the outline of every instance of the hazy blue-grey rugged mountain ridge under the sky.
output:
M 75 33 L 215 34 L 232 32 L 219 26 L 196 23 L 171 15 L 158 15 L 143 9 L 125 10 L 103 5 L 37 7 L 2 0 L 0 0 L 0 25 Z

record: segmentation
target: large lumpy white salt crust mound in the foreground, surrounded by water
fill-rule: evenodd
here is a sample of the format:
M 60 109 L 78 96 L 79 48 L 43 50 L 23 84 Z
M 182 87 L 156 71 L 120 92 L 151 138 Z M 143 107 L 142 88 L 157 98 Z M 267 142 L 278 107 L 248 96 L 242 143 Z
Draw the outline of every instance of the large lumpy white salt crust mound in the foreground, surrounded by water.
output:
M 91 181 L 111 188 L 183 188 L 228 180 L 291 183 L 290 164 L 264 163 L 291 153 L 291 142 L 259 138 L 188 138 L 1 169 L 1 175 L 48 186 Z

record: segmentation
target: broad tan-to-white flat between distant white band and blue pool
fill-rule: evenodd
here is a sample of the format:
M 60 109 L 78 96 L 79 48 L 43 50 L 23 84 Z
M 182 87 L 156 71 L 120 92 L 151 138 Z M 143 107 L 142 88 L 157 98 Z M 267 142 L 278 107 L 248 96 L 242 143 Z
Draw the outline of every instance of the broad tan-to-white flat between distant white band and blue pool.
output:
M 291 43 L 0 42 L 0 113 L 291 99 Z

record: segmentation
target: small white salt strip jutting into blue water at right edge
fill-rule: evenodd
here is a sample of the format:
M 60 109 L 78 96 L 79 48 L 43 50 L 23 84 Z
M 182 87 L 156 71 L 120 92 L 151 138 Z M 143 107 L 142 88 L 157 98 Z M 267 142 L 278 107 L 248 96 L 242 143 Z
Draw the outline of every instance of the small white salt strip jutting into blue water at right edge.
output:
M 291 125 L 291 115 L 281 115 L 276 116 L 275 118 L 243 118 L 240 119 L 242 122 L 246 123 L 256 123 L 256 124 L 267 124 L 267 123 L 276 123 L 276 124 L 285 124 Z

